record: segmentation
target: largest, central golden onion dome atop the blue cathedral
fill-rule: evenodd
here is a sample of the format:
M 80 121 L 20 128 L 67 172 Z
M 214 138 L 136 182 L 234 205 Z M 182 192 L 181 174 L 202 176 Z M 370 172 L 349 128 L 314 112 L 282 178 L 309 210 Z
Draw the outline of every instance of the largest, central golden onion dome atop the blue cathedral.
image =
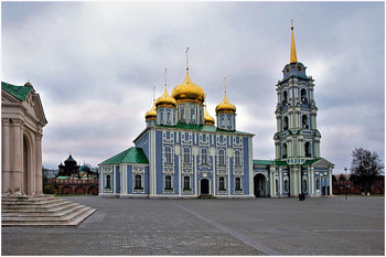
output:
M 204 89 L 194 84 L 191 78 L 189 77 L 189 72 L 186 71 L 186 78 L 185 81 L 175 86 L 172 92 L 172 97 L 176 101 L 196 101 L 203 104 L 205 100 L 205 92 Z

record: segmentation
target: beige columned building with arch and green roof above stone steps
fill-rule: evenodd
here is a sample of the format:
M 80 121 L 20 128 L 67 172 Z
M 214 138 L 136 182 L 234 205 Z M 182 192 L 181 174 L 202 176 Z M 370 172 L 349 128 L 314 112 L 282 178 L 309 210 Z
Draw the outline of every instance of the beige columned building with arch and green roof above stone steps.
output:
M 1 193 L 42 194 L 42 137 L 47 124 L 31 83 L 1 82 Z

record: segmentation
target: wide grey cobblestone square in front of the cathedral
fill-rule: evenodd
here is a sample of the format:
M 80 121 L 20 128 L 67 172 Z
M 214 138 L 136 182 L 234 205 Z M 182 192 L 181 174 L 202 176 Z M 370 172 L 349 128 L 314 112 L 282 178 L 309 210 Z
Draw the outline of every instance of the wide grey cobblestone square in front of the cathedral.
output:
M 384 255 L 384 197 L 74 196 L 77 228 L 3 227 L 2 255 Z

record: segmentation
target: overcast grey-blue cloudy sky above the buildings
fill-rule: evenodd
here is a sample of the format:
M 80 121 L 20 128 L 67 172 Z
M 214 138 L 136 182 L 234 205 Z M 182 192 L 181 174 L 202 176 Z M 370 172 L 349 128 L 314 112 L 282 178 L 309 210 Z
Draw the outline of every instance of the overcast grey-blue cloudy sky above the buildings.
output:
M 208 113 L 227 96 L 254 159 L 275 159 L 276 84 L 290 60 L 315 79 L 321 156 L 335 173 L 354 148 L 384 160 L 384 2 L 2 2 L 1 79 L 40 94 L 43 165 L 69 151 L 92 165 L 132 147 L 144 114 L 190 74 Z

